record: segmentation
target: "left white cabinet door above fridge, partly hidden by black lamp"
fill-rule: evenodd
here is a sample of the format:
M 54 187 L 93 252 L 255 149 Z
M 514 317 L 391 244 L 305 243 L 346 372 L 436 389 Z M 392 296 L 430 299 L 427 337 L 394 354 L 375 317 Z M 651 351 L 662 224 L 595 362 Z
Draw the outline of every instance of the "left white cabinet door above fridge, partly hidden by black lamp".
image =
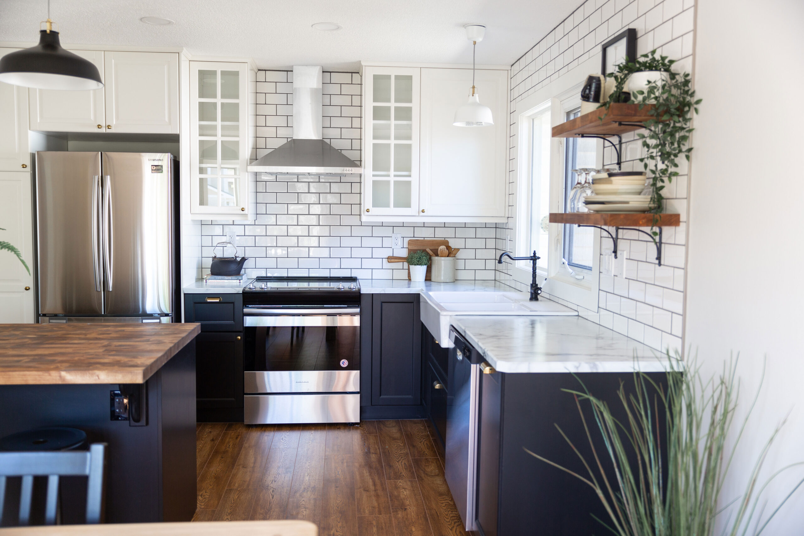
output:
M 103 51 L 71 51 L 92 62 L 104 79 Z M 45 132 L 104 132 L 104 89 L 29 90 L 31 130 Z

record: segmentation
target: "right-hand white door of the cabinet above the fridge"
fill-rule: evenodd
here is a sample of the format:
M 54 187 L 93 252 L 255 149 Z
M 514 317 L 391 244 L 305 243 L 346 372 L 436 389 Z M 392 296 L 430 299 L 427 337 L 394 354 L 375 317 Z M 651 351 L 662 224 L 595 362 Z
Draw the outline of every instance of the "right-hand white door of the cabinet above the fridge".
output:
M 178 134 L 178 54 L 105 52 L 106 131 Z

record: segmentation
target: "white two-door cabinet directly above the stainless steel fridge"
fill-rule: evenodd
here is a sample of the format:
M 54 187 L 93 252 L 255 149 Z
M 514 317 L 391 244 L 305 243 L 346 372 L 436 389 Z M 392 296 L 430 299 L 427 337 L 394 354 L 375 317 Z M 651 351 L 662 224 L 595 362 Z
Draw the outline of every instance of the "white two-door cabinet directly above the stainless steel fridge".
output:
M 178 54 L 71 52 L 95 64 L 105 87 L 31 89 L 31 130 L 178 134 Z

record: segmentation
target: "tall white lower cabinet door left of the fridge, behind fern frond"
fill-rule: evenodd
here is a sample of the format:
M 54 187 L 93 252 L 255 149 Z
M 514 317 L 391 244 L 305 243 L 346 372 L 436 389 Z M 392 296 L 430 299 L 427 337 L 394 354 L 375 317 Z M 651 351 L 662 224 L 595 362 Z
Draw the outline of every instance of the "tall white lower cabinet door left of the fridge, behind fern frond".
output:
M 0 324 L 30 324 L 34 317 L 34 232 L 31 173 L 0 171 L 0 241 L 17 248 L 31 269 L 14 253 L 0 251 Z

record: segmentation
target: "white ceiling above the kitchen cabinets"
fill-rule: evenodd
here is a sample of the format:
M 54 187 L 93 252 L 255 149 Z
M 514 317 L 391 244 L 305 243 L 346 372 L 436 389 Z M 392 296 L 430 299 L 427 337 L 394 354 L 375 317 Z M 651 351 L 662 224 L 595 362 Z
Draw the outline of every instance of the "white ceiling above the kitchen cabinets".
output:
M 513 63 L 581 0 L 51 0 L 62 43 L 186 47 L 252 57 L 259 68 L 359 61 L 470 63 L 463 25 L 485 24 L 478 63 Z M 47 0 L 0 0 L 0 41 L 35 41 Z M 170 18 L 151 26 L 140 18 Z M 323 32 L 313 23 L 343 30 Z

